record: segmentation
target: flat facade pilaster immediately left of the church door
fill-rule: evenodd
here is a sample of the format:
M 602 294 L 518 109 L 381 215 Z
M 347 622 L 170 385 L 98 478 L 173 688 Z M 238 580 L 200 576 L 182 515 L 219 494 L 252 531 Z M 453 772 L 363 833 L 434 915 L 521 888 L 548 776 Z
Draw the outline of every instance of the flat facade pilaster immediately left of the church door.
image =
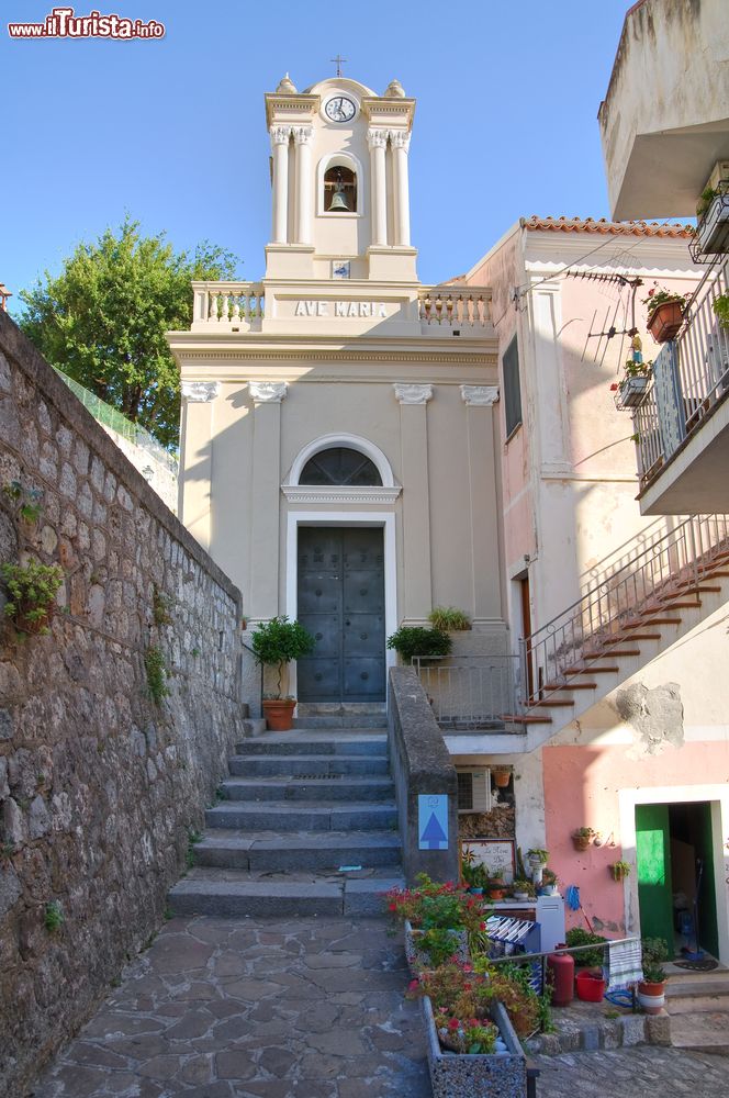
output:
M 281 497 L 281 401 L 285 381 L 251 381 L 254 458 L 250 515 L 250 617 L 279 613 L 279 512 Z

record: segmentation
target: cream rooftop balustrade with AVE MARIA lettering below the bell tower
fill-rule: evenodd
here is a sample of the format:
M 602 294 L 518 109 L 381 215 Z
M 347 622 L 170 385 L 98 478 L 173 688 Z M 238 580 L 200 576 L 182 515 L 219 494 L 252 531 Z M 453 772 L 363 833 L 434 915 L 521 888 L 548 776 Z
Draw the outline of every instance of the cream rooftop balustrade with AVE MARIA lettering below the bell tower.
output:
M 327 334 L 494 338 L 486 287 L 392 288 L 360 280 L 271 287 L 263 282 L 193 282 L 192 332 L 291 335 L 312 324 Z

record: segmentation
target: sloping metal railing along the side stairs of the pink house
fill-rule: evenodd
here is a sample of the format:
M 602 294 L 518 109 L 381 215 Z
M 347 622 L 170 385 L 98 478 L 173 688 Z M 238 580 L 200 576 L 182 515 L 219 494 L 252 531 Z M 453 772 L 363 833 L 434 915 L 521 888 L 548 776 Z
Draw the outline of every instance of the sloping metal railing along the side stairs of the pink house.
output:
M 694 515 L 651 541 L 547 625 L 521 640 L 525 706 L 563 687 L 625 641 L 626 625 L 658 617 L 674 593 L 698 585 L 729 551 L 729 516 Z

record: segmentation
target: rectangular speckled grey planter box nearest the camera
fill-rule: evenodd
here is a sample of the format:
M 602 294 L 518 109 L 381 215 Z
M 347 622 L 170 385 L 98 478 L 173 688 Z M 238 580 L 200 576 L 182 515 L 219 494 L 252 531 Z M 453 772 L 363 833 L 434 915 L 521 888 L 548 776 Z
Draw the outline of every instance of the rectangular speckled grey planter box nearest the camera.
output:
M 494 1004 L 491 1017 L 508 1052 L 491 1056 L 444 1052 L 427 997 L 423 999 L 423 1016 L 434 1098 L 525 1098 L 526 1056 L 501 1002 Z

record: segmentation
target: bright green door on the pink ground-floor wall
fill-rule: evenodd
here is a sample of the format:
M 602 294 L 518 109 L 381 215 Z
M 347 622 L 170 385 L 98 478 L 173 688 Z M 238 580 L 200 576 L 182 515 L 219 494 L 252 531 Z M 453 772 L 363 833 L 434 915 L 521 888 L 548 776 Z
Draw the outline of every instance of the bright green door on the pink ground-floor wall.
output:
M 642 938 L 662 938 L 673 955 L 673 888 L 668 805 L 636 806 L 638 903 Z

